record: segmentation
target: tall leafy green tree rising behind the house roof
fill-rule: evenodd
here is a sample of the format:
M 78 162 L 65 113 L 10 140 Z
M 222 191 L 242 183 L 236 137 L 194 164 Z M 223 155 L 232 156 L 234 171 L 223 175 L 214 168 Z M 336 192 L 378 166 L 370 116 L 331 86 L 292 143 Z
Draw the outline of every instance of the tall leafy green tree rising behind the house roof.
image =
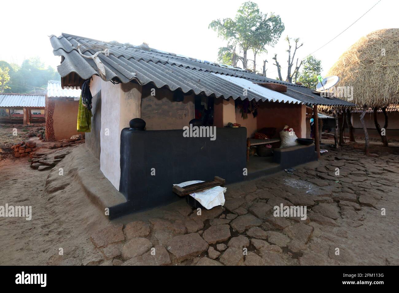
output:
M 284 31 L 284 24 L 280 16 L 271 14 L 268 17 L 259 11 L 258 4 L 248 1 L 240 6 L 234 19 L 213 20 L 209 28 L 227 40 L 228 46 L 238 45 L 243 51 L 243 56 L 238 58 L 243 62 L 243 68 L 247 68 L 248 50 L 253 49 L 256 57 L 257 53 L 264 50 L 265 45 L 275 45 Z M 254 63 L 256 67 L 256 60 Z

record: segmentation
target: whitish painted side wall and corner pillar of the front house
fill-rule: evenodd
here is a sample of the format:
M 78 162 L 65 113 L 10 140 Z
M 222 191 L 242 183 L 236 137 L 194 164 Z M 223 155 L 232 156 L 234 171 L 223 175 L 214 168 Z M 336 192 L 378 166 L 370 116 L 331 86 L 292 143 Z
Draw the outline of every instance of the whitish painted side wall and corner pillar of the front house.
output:
M 133 83 L 114 85 L 97 76 L 91 84 L 93 89 L 101 88 L 100 169 L 119 190 L 120 132 L 129 127 L 131 119 L 140 118 L 142 87 Z

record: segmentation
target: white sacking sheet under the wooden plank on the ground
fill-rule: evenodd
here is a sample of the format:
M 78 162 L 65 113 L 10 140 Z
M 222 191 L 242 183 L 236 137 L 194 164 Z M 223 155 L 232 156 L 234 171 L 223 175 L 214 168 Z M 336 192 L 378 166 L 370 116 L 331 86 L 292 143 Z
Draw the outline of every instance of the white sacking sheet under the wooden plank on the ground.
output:
M 185 187 L 195 183 L 204 182 L 201 180 L 191 180 L 182 182 L 177 185 L 178 187 Z M 215 186 L 203 191 L 191 193 L 190 196 L 194 197 L 204 208 L 210 210 L 214 206 L 223 206 L 225 203 L 224 193 L 227 191 L 226 187 Z

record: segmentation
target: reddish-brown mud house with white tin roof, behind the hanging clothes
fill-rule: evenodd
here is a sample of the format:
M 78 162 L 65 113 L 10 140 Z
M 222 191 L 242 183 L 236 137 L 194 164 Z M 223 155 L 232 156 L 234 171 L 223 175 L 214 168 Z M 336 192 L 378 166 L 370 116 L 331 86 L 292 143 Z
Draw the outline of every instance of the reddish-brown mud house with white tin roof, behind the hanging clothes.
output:
M 61 87 L 60 81 L 48 81 L 46 94 L 47 141 L 69 139 L 75 134 L 77 110 L 81 90 L 79 87 Z

